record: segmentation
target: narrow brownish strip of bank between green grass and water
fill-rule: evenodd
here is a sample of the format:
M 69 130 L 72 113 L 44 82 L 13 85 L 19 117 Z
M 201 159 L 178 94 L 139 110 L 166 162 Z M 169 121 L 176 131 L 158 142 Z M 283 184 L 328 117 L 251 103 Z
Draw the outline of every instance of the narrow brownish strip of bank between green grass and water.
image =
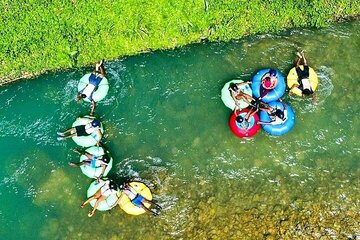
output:
M 334 21 L 331 21 L 329 24 L 339 24 L 339 23 L 343 23 L 343 22 L 352 22 L 352 21 L 359 21 L 360 20 L 360 13 L 356 13 L 355 15 L 347 15 L 347 16 L 340 16 L 340 17 L 335 17 Z M 272 29 L 273 26 L 269 26 L 268 30 Z M 283 31 L 289 31 L 291 29 L 295 29 L 295 28 L 301 28 L 301 27 L 305 27 L 305 28 L 310 28 L 310 27 L 317 27 L 317 26 L 309 26 L 304 24 L 303 26 L 294 26 L 294 27 L 290 27 L 290 28 L 279 28 L 276 30 L 272 30 L 271 33 L 279 33 L 279 32 L 283 32 Z M 317 27 L 317 28 L 322 28 L 322 27 Z M 257 32 L 255 34 L 242 34 L 239 36 L 236 36 L 235 38 L 230 38 L 230 39 L 217 39 L 217 40 L 210 40 L 207 37 L 201 37 L 196 39 L 195 41 L 188 41 L 185 44 L 180 44 L 180 45 L 176 45 L 176 46 L 168 46 L 168 47 L 164 47 L 164 48 L 149 48 L 146 50 L 140 49 L 139 51 L 135 51 L 132 53 L 126 53 L 126 54 L 122 54 L 113 58 L 107 58 L 107 61 L 111 61 L 111 60 L 115 60 L 115 59 L 120 59 L 120 58 L 126 58 L 126 57 L 132 57 L 132 56 L 136 56 L 136 55 L 140 55 L 140 54 L 144 54 L 144 53 L 149 53 L 149 52 L 154 52 L 154 51 L 166 51 L 166 50 L 171 50 L 171 49 L 176 49 L 178 47 L 184 47 L 186 45 L 191 45 L 191 44 L 196 44 L 196 43 L 200 43 L 203 41 L 207 41 L 207 42 L 227 42 L 227 41 L 234 41 L 234 40 L 239 40 L 241 38 L 244 37 L 251 37 L 251 36 L 256 36 L 256 35 L 261 35 L 264 33 L 268 33 L 268 31 L 263 31 L 263 32 Z M 1 76 L 0 75 L 0 87 L 7 85 L 7 84 L 11 84 L 13 82 L 16 81 L 21 81 L 21 80 L 29 80 L 29 79 L 33 79 L 36 78 L 42 74 L 46 74 L 46 73 L 56 73 L 58 71 L 66 71 L 66 70 L 70 70 L 70 69 L 75 69 L 75 68 L 84 68 L 84 67 L 90 67 L 91 65 L 93 65 L 94 62 L 97 62 L 99 59 L 98 58 L 93 58 L 91 59 L 91 61 L 89 63 L 85 63 L 85 64 L 80 64 L 80 65 L 76 65 L 76 66 L 70 66 L 70 67 L 63 67 L 63 66 L 56 66 L 54 68 L 44 68 L 41 69 L 40 71 L 35 71 L 35 72 L 31 72 L 31 71 L 25 71 L 22 74 L 15 74 L 12 75 L 11 73 L 5 73 L 7 76 Z

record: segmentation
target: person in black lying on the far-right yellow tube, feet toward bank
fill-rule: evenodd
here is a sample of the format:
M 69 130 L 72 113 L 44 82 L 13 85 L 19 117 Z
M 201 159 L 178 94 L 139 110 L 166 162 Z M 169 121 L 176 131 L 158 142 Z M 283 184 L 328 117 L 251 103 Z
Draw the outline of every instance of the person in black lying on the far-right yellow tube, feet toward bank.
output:
M 307 60 L 305 58 L 304 51 L 301 51 L 300 53 L 297 52 L 296 55 L 297 55 L 297 58 L 296 58 L 295 70 L 298 75 L 298 84 L 299 85 L 293 85 L 290 90 L 301 91 L 302 96 L 311 96 L 313 101 L 315 101 L 316 95 L 310 85 L 309 66 L 308 66 Z M 303 61 L 304 70 L 301 70 L 301 68 L 300 68 L 301 60 Z M 290 91 L 290 93 L 291 92 L 292 91 Z

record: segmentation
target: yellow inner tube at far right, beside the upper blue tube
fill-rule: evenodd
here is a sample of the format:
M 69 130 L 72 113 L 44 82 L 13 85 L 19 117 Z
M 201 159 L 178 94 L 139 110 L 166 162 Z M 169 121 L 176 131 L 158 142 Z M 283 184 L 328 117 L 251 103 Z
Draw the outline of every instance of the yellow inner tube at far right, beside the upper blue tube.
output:
M 301 70 L 304 70 L 304 65 L 300 65 L 299 66 Z M 298 96 L 302 96 L 302 91 L 298 88 L 293 88 L 292 87 L 298 87 L 300 84 L 298 82 L 299 76 L 297 75 L 296 69 L 295 67 L 293 67 L 290 71 L 289 74 L 287 76 L 287 86 L 288 88 L 290 88 L 290 93 L 298 95 Z M 311 67 L 309 67 L 309 82 L 310 82 L 310 86 L 311 89 L 315 92 L 318 84 L 319 84 L 319 79 L 318 76 L 315 72 L 315 70 Z

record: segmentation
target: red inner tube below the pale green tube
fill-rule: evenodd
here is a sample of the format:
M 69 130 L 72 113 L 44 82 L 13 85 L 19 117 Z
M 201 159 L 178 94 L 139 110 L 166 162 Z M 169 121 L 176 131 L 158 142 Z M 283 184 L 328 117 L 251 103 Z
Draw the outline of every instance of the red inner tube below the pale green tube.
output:
M 240 115 L 244 118 L 244 123 L 245 123 L 245 116 L 248 112 L 249 112 L 249 109 L 247 109 L 247 108 L 238 112 L 238 115 Z M 254 136 L 259 131 L 260 125 L 257 124 L 257 122 L 259 121 L 259 116 L 257 113 L 255 113 L 249 119 L 249 123 L 248 123 L 249 125 L 248 125 L 247 129 L 243 128 L 241 126 L 241 124 L 236 121 L 236 116 L 237 115 L 235 113 L 233 113 L 229 119 L 230 129 L 236 136 L 238 136 L 240 138 L 249 138 L 249 137 Z

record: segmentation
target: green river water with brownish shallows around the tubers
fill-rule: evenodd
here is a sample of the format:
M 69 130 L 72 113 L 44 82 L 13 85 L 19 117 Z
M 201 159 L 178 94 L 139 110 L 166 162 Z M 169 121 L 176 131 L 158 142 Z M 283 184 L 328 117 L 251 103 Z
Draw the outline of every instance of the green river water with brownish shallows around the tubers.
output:
M 222 86 L 263 67 L 286 75 L 298 49 L 319 75 L 316 103 L 285 95 L 290 133 L 237 138 Z M 88 112 L 75 95 L 90 68 L 1 87 L 0 239 L 359 238 L 359 49 L 357 21 L 106 62 L 96 115 L 109 176 L 147 183 L 158 217 L 80 208 L 91 180 L 68 166 L 76 145 L 56 132 Z

